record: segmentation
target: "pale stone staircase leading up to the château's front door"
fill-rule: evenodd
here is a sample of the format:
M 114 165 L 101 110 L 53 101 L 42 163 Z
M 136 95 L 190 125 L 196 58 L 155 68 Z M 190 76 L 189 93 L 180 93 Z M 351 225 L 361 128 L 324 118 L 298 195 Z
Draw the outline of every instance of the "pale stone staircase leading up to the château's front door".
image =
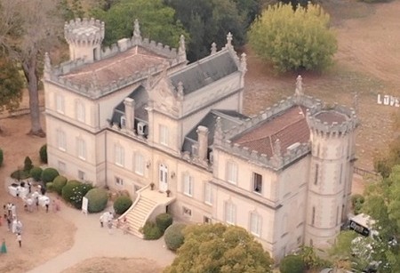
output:
M 127 232 L 143 238 L 140 229 L 144 226 L 148 220 L 148 216 L 153 212 L 157 205 L 158 203 L 156 201 L 148 197 L 139 196 L 136 204 L 133 204 L 132 208 L 122 216 L 126 217 L 126 222 L 129 227 Z

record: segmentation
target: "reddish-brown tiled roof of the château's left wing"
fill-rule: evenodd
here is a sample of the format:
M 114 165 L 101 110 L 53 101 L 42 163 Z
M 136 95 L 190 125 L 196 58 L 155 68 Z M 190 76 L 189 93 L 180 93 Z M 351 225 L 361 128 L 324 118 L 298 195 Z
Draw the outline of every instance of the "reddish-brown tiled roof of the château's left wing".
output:
M 147 71 L 148 68 L 160 65 L 165 60 L 168 59 L 143 47 L 135 46 L 115 56 L 85 64 L 60 78 L 68 79 L 74 84 L 87 86 L 94 83 L 102 87 L 118 79 L 132 76 L 135 72 Z

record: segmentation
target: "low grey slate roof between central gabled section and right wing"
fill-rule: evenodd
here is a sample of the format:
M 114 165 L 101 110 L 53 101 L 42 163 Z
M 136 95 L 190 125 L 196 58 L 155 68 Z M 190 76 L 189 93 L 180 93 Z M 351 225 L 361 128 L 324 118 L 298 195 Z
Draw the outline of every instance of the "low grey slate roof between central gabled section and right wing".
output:
M 226 131 L 237 124 L 241 124 L 245 119 L 249 118 L 234 110 L 212 110 L 204 118 L 188 132 L 183 143 L 182 150 L 191 152 L 192 145 L 197 142 L 197 127 L 202 125 L 208 128 L 208 145 L 212 146 L 214 141 L 215 123 L 217 117 L 220 116 L 222 131 Z

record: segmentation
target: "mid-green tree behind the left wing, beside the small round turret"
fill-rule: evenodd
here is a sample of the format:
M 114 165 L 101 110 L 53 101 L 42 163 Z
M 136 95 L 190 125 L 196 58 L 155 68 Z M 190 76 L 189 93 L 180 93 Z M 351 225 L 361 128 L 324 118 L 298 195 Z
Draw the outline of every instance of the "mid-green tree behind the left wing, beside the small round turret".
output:
M 92 17 L 103 20 L 106 24 L 106 45 L 132 36 L 133 22 L 138 19 L 143 37 L 176 47 L 180 35 L 188 38 L 188 34 L 180 22 L 174 19 L 174 13 L 162 0 L 121 0 L 111 5 L 107 11 L 100 8 L 91 11 Z

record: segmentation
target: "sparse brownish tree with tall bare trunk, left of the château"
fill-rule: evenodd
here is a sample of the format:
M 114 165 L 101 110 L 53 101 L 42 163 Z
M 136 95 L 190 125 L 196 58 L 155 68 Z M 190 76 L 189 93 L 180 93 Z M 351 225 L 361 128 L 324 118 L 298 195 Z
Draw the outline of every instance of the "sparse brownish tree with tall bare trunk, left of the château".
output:
M 42 137 L 38 87 L 44 52 L 58 42 L 63 30 L 58 6 L 57 0 L 0 0 L 0 45 L 20 63 L 29 93 L 29 133 Z

